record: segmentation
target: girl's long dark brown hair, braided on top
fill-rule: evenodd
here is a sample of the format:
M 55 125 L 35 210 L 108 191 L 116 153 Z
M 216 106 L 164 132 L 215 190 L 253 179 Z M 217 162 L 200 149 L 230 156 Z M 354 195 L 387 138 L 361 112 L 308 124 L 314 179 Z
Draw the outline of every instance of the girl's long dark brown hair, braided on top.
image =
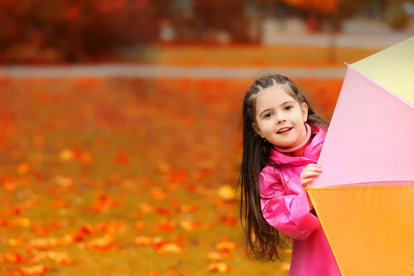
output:
M 287 248 L 286 237 L 270 226 L 262 214 L 260 205 L 261 193 L 259 190 L 259 174 L 268 164 L 268 157 L 272 144 L 265 141 L 252 127 L 255 122 L 256 98 L 259 92 L 270 86 L 285 86 L 286 92 L 299 104 L 306 103 L 308 106 L 307 123 L 310 126 L 320 126 L 328 129 L 329 121 L 324 119 L 311 107 L 306 97 L 299 91 L 296 84 L 284 75 L 269 75 L 256 79 L 255 83 L 248 89 L 243 102 L 243 152 L 240 169 L 239 184 L 241 187 L 240 217 L 242 228 L 247 239 L 247 253 L 255 259 L 267 257 L 268 260 L 280 260 L 279 249 Z

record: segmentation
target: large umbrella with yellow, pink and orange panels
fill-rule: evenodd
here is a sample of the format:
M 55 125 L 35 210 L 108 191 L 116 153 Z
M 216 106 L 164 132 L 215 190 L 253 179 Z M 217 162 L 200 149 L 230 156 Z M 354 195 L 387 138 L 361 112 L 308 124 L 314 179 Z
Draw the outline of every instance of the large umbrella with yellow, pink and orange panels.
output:
M 414 275 L 414 37 L 348 65 L 309 185 L 342 274 Z

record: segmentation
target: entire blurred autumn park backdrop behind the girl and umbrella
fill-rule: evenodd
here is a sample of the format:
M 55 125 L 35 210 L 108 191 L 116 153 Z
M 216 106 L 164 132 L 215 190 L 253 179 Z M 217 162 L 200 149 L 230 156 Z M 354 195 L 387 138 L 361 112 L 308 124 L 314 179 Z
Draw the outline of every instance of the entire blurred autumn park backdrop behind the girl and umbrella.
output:
M 0 275 L 287 275 L 246 257 L 244 93 L 283 73 L 331 118 L 414 1 L 1 0 Z

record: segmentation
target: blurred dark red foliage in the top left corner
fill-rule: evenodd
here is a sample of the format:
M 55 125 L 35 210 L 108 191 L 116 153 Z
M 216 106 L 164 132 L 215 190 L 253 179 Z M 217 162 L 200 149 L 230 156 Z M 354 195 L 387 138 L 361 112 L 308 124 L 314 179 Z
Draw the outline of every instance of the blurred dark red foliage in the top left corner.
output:
M 157 40 L 170 0 L 1 0 L 0 59 L 89 62 L 115 48 Z

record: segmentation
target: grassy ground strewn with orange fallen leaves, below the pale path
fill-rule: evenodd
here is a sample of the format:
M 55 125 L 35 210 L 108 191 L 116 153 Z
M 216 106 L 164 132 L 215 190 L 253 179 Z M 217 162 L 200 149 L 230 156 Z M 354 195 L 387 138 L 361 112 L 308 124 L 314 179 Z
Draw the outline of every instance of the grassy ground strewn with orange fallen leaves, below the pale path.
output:
M 342 80 L 297 79 L 330 117 Z M 287 275 L 244 253 L 248 80 L 0 81 L 0 275 Z

